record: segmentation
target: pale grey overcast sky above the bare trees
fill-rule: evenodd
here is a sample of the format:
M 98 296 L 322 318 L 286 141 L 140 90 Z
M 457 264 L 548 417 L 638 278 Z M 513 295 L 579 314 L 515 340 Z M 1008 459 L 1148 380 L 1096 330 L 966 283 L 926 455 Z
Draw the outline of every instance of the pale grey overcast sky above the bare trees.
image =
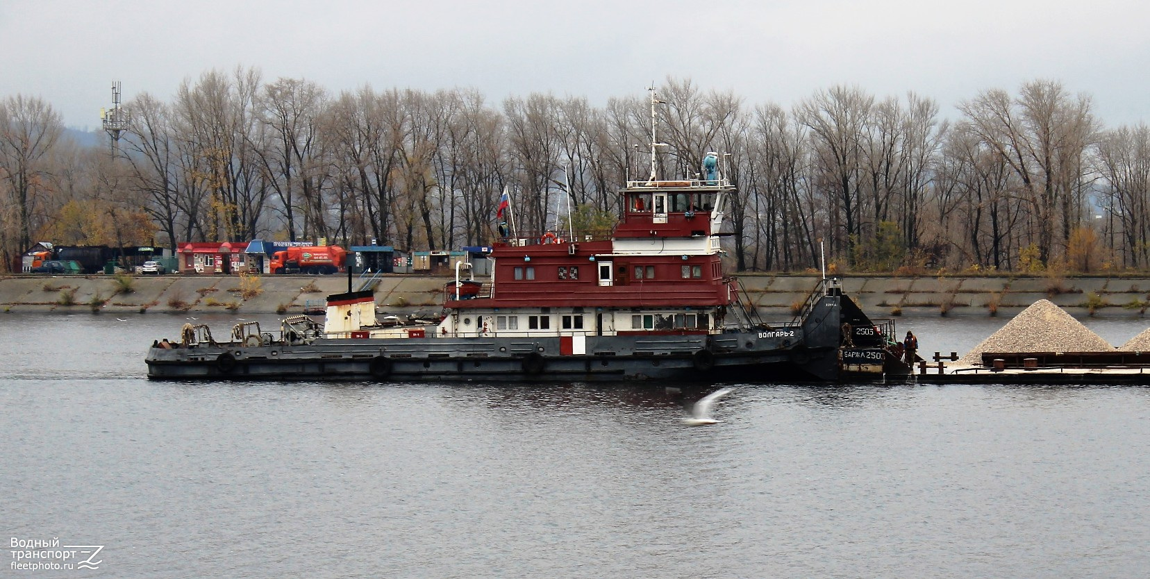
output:
M 171 100 L 216 68 L 307 78 L 338 93 L 474 87 L 642 96 L 690 78 L 747 105 L 815 90 L 913 91 L 953 105 L 1036 78 L 1089 93 L 1111 126 L 1150 121 L 1145 0 L 0 0 L 0 98 L 48 101 L 99 126 L 124 101 Z

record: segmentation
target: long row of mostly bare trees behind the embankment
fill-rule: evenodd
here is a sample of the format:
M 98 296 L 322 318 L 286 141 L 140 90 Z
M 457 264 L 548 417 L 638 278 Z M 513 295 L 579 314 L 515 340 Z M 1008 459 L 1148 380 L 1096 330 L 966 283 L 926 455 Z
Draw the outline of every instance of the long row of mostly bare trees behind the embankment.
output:
M 954 119 L 927 96 L 853 86 L 784 108 L 668 78 L 658 98 L 660 176 L 693 177 L 718 152 L 738 187 L 724 241 L 738 270 L 806 270 L 823 253 L 851 271 L 1150 264 L 1150 130 L 1105 128 L 1089 95 L 1058 82 L 982 91 Z M 569 213 L 610 223 L 619 188 L 651 163 L 644 94 L 604 107 L 465 88 L 335 94 L 237 68 L 125 109 L 109 150 L 62 138 L 41 99 L 0 101 L 7 267 L 40 240 L 483 245 L 504 190 L 520 231 Z

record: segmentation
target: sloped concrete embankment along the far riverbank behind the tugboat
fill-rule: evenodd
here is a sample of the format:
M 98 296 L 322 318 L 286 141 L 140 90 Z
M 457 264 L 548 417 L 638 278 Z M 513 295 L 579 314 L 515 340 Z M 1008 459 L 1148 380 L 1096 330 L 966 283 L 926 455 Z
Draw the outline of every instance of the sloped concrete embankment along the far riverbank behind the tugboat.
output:
M 110 276 L 0 278 L 0 311 L 246 311 L 299 314 L 307 300 L 347 291 L 340 276 L 263 276 L 245 298 L 236 276 L 135 276 L 117 291 Z M 742 286 L 769 319 L 788 318 L 815 287 L 813 276 L 743 275 Z M 381 279 L 376 303 L 397 312 L 438 309 L 448 279 L 394 275 Z M 1049 299 L 1074 316 L 1145 315 L 1150 277 L 846 277 L 843 290 L 872 316 L 1013 316 Z M 99 303 L 102 301 L 102 306 Z M 95 304 L 95 306 L 93 306 Z

